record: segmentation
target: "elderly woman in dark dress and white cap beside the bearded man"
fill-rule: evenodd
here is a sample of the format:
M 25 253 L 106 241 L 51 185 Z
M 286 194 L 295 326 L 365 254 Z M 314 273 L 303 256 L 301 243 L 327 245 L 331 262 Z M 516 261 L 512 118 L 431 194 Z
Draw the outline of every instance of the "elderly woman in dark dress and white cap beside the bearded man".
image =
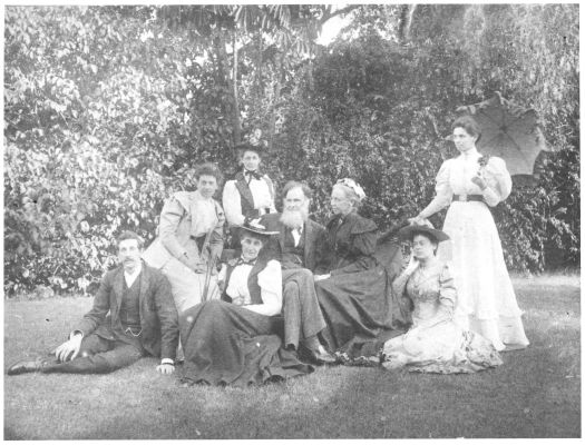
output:
M 387 271 L 373 255 L 378 227 L 357 211 L 364 197 L 352 179 L 333 186 L 334 215 L 326 224 L 329 257 L 315 275 L 315 290 L 328 324 L 324 340 L 348 364 L 359 364 L 361 357 L 372 355 L 381 338 L 403 332 L 392 325 L 391 320 L 400 317 L 391 313 L 400 309 L 389 298 Z

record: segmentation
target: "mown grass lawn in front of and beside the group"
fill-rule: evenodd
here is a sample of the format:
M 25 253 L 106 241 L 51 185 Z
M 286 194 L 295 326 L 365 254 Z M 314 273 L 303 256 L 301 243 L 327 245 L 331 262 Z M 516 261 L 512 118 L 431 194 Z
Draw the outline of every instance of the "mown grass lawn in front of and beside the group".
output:
M 332 367 L 179 388 L 145 358 L 110 375 L 4 376 L 6 439 L 581 437 L 578 276 L 514 278 L 532 345 L 474 375 Z M 4 370 L 59 344 L 89 298 L 4 303 Z

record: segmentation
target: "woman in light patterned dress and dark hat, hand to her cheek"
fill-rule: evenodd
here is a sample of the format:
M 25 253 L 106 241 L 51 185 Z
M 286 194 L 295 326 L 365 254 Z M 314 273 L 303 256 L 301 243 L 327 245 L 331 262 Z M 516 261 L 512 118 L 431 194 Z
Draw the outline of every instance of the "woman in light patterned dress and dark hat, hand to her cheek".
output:
M 412 241 L 412 258 L 392 287 L 413 306 L 412 327 L 384 344 L 382 366 L 452 374 L 501 365 L 489 340 L 452 320 L 457 290 L 449 268 L 436 257 L 438 244 L 449 236 L 427 226 L 404 227 L 399 236 Z

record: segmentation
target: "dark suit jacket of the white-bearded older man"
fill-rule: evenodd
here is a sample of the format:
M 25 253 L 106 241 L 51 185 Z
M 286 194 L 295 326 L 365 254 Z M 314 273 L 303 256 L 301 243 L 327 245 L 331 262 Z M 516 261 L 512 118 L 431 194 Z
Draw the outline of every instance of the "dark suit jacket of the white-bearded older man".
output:
M 260 224 L 266 227 L 266 230 L 279 231 L 280 235 L 274 236 L 271 240 L 267 250 L 272 251 L 275 258 L 280 259 L 284 251 L 284 236 L 286 227 L 280 221 L 281 214 L 264 215 Z M 325 255 L 326 246 L 326 230 L 319 222 L 308 219 L 304 222 L 304 258 L 303 265 L 311 271 L 316 271 L 318 266 L 322 263 Z

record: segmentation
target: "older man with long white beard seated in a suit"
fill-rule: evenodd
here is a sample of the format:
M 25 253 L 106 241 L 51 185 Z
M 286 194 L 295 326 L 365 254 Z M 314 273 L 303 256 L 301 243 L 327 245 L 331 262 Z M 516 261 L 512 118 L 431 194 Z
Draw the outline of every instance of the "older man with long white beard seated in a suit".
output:
M 287 182 L 283 188 L 283 212 L 265 215 L 260 224 L 280 233 L 267 250 L 282 266 L 284 345 L 325 364 L 335 358 L 318 338 L 326 325 L 316 299 L 313 271 L 324 253 L 326 230 L 309 219 L 312 196 L 305 184 Z

